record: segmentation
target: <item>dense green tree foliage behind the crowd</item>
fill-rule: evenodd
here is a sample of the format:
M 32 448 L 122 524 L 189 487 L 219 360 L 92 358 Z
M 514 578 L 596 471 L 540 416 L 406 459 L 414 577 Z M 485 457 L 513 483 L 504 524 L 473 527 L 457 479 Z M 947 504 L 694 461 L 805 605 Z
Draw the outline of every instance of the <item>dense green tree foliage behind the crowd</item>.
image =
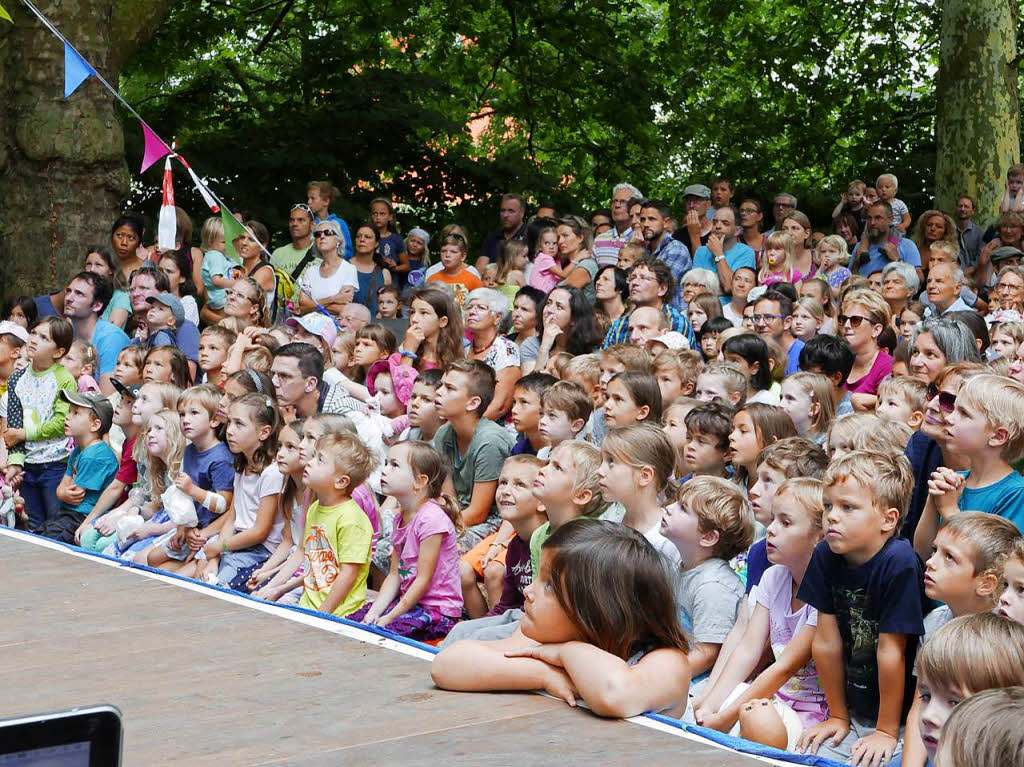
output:
M 904 199 L 931 187 L 938 6 L 207 0 L 178 3 L 122 89 L 232 208 L 279 232 L 325 177 L 349 220 L 384 194 L 428 225 L 457 206 L 478 237 L 504 190 L 580 210 L 622 180 L 680 203 L 724 173 L 762 196 L 821 188 L 809 203 L 825 211 L 882 170 Z M 143 181 L 152 209 L 159 167 Z

